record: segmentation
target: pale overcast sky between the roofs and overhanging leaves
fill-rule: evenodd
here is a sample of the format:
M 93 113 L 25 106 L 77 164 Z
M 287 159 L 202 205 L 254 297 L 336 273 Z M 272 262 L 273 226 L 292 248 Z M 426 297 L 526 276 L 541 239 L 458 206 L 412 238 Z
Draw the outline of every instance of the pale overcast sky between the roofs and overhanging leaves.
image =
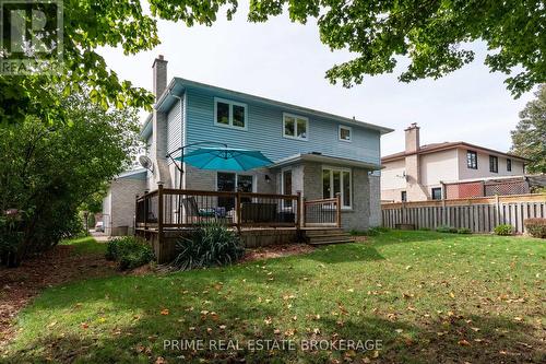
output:
M 283 14 L 252 24 L 244 8 L 232 22 L 218 16 L 211 27 L 159 22 L 162 45 L 152 51 L 130 57 L 119 49 L 100 52 L 121 79 L 147 90 L 152 62 L 161 54 L 168 60 L 169 80 L 181 77 L 395 129 L 383 136 L 382 155 L 403 150 L 403 129 L 411 122 L 422 127 L 422 144 L 465 141 L 508 151 L 518 113 L 533 96 L 511 96 L 505 75 L 483 64 L 483 44 L 473 45 L 477 57 L 472 64 L 437 81 L 401 83 L 395 72 L 365 78 L 353 89 L 332 85 L 324 72 L 351 55 L 321 44 L 314 22 L 294 24 Z

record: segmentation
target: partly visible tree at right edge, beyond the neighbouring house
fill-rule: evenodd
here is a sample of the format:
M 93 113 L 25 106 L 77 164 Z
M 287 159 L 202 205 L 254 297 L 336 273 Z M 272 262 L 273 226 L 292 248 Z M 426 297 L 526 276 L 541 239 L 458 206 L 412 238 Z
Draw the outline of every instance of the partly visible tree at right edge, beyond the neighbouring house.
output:
M 512 130 L 512 153 L 531 160 L 529 173 L 546 173 L 546 84 L 538 86 L 535 96 Z

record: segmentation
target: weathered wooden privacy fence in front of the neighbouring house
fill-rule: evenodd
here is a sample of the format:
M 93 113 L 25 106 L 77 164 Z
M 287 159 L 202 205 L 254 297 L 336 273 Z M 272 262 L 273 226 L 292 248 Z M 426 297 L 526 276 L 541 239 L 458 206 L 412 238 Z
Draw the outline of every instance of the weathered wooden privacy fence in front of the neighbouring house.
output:
M 499 224 L 510 224 L 523 233 L 523 221 L 546 218 L 546 193 L 381 204 L 383 226 L 411 224 L 415 228 L 466 227 L 489 233 Z

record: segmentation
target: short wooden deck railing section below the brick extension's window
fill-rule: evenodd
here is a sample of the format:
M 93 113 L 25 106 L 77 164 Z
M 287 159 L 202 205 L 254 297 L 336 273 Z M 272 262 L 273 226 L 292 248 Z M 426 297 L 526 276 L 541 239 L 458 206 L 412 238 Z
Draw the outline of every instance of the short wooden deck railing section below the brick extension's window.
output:
M 331 199 L 304 201 L 305 226 L 341 227 L 341 196 Z

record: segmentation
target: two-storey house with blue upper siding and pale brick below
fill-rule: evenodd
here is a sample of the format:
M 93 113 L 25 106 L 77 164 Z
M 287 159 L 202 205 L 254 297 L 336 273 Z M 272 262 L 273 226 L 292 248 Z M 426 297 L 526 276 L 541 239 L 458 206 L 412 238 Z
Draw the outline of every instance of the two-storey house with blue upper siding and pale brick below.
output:
M 142 189 L 153 190 L 161 181 L 197 190 L 300 191 L 308 200 L 341 193 L 344 228 L 380 224 L 379 177 L 373 172 L 380 169 L 381 136 L 392 129 L 186 79 L 167 83 L 167 61 L 161 56 L 153 73 L 156 104 L 141 137 L 154 172 L 141 172 L 145 178 L 130 175 L 141 180 Z M 180 177 L 166 154 L 197 142 L 258 150 L 274 164 L 246 173 L 186 165 Z

